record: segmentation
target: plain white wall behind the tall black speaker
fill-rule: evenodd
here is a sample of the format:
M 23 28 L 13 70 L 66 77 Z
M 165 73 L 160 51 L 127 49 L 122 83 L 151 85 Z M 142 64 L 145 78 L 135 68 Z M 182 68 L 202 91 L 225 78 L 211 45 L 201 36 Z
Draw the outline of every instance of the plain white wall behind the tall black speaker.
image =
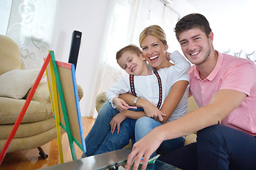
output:
M 82 116 L 90 115 L 94 99 L 96 77 L 100 69 L 100 48 L 107 17 L 107 1 L 58 1 L 52 49 L 56 60 L 68 62 L 73 30 L 82 32 L 77 83 L 82 86 L 84 97 L 80 101 Z

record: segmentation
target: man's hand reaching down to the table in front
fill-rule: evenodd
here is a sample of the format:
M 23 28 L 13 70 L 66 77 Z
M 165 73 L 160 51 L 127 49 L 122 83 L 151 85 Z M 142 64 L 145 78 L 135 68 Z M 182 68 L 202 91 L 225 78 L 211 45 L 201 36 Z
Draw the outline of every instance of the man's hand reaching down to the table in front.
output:
M 146 169 L 149 157 L 153 154 L 157 148 L 161 145 L 161 140 L 157 137 L 157 131 L 152 130 L 148 135 L 143 137 L 141 140 L 136 142 L 132 147 L 132 152 L 129 154 L 127 159 L 127 165 L 125 169 L 130 169 L 134 163 L 133 169 L 138 169 L 139 162 L 143 159 L 142 169 Z

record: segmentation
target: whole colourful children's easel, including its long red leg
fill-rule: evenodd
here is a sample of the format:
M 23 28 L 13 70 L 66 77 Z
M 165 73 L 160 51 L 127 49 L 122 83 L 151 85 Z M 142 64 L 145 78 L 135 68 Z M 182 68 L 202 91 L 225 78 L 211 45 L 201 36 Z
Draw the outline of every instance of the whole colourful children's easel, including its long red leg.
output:
M 51 62 L 50 62 L 50 60 L 51 60 Z M 59 63 L 60 64 L 57 65 L 57 62 L 55 61 L 54 52 L 50 51 L 48 56 L 45 59 L 45 62 L 43 63 L 43 66 L 38 74 L 38 77 L 36 78 L 35 83 L 32 86 L 31 92 L 28 94 L 28 98 L 26 99 L 26 102 L 24 103 L 24 106 L 21 109 L 20 114 L 18 115 L 16 123 L 14 124 L 14 128 L 11 130 L 9 137 L 6 140 L 6 144 L 4 145 L 4 148 L 1 151 L 0 165 L 3 162 L 3 159 L 6 155 L 7 149 L 9 148 L 9 145 L 11 144 L 11 140 L 14 139 L 14 135 L 16 134 L 16 131 L 18 130 L 18 126 L 21 124 L 21 120 L 23 119 L 23 116 L 26 113 L 28 105 L 31 102 L 31 99 L 33 98 L 33 95 L 36 92 L 38 84 L 41 81 L 41 78 L 43 77 L 43 73 L 45 72 L 45 70 L 47 69 L 48 66 L 50 67 L 50 69 L 49 69 L 50 71 L 47 72 L 47 74 L 50 73 L 50 75 L 48 75 L 48 88 L 50 91 L 50 100 L 52 103 L 53 114 L 55 116 L 55 123 L 56 123 L 56 128 L 57 128 L 56 130 L 57 130 L 58 147 L 59 147 L 59 153 L 60 153 L 60 163 L 63 163 L 63 152 L 62 152 L 62 145 L 61 145 L 60 126 L 68 134 L 68 141 L 70 144 L 70 151 L 71 151 L 73 160 L 76 159 L 74 142 L 78 145 L 78 147 L 80 147 L 80 149 L 83 152 L 86 152 L 85 140 L 84 140 L 85 137 L 84 137 L 83 130 L 82 130 L 82 121 L 81 121 L 81 115 L 80 115 L 78 89 L 77 89 L 77 84 L 75 81 L 75 68 L 74 68 L 73 64 L 68 64 L 68 63 L 63 63 L 63 62 L 59 62 Z M 68 69 L 68 71 L 71 74 L 71 79 L 68 79 L 68 81 L 72 82 L 72 84 L 73 84 L 72 89 L 73 89 L 74 95 L 72 96 L 72 93 L 71 93 L 71 96 L 74 98 L 72 99 L 71 102 L 68 101 L 68 103 L 65 102 L 65 100 L 68 100 L 68 98 L 65 98 L 65 95 L 67 95 L 67 94 L 63 93 L 63 87 L 61 84 L 61 81 L 65 81 L 66 79 L 65 78 L 60 79 L 60 74 L 59 74 L 59 71 L 63 70 L 62 68 Z M 65 75 L 63 75 L 63 76 L 65 77 Z M 58 93 L 57 93 L 56 85 L 57 85 Z M 65 91 L 66 91 L 66 89 L 64 89 L 64 92 Z M 72 92 L 72 91 L 70 91 L 70 89 L 68 89 L 68 94 L 70 92 Z M 58 102 L 58 101 L 60 101 L 60 102 Z M 74 109 L 73 108 L 74 104 L 72 102 L 75 103 L 75 111 L 73 111 L 73 112 L 76 112 L 77 114 L 74 114 L 74 113 L 68 114 L 68 110 L 71 109 L 70 111 L 72 111 L 72 109 Z M 66 107 L 66 104 L 69 105 L 68 109 Z M 74 115 L 76 116 L 76 120 L 74 118 Z M 78 122 L 76 122 L 76 121 L 78 121 Z M 75 127 L 76 125 L 78 127 Z M 79 137 L 78 137 L 78 134 L 80 135 Z

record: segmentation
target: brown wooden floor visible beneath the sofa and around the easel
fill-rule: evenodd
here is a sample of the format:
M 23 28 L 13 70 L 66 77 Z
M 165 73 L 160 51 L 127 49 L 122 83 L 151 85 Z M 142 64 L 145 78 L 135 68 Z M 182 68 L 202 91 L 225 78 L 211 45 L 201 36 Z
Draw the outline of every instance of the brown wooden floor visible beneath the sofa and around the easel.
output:
M 85 136 L 92 128 L 95 119 L 92 118 L 82 118 L 82 126 L 85 133 Z M 68 135 L 64 133 L 61 136 L 62 145 L 63 145 L 63 159 L 64 162 L 73 161 L 72 155 L 70 152 L 70 147 L 68 144 Z M 41 169 L 48 166 L 53 166 L 60 164 L 60 158 L 58 154 L 58 140 L 57 138 L 51 142 L 48 142 L 46 145 L 41 146 L 49 157 L 48 159 L 43 159 L 38 154 L 38 149 L 30 149 L 20 152 L 7 153 L 4 157 L 4 160 L 0 166 L 0 170 L 27 170 L 27 169 Z M 82 151 L 75 145 L 75 152 L 77 158 L 80 159 Z

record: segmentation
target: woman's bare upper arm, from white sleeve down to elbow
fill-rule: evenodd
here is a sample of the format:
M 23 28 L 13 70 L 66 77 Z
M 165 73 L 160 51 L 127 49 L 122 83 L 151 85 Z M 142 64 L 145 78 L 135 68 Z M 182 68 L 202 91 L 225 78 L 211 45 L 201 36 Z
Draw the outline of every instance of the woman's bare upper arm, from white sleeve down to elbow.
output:
M 174 110 L 178 106 L 178 103 L 181 101 L 181 98 L 183 97 L 188 84 L 189 84 L 188 81 L 181 80 L 181 81 L 177 81 L 172 86 L 171 91 L 169 92 L 168 96 L 164 100 L 163 106 L 160 109 L 162 113 L 166 114 L 166 116 L 164 117 L 164 120 L 161 121 L 161 123 L 166 123 L 166 121 L 170 118 L 171 114 L 174 112 Z

